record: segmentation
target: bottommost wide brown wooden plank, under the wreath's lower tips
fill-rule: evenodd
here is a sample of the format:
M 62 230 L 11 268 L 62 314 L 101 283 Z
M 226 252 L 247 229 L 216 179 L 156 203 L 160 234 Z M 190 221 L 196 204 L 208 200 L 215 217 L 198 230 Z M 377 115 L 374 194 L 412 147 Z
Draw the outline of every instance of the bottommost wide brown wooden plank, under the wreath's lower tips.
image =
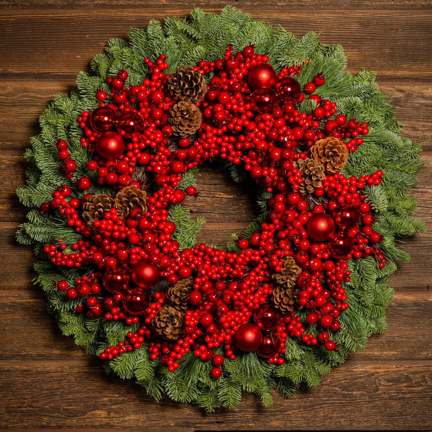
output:
M 131 380 L 106 377 L 101 370 L 76 373 L 6 371 L 1 377 L 3 428 L 190 427 L 196 430 L 429 429 L 432 426 L 431 362 L 348 361 L 321 384 L 284 399 L 277 392 L 270 408 L 245 394 L 238 408 L 203 415 L 188 404 L 164 397 L 156 404 Z M 3 379 L 4 379 L 3 378 Z M 413 409 L 415 407 L 415 409 Z M 179 412 L 181 409 L 181 412 Z M 284 417 L 281 416 L 284 413 Z M 313 416 L 310 414 L 313 413 Z M 361 413 L 361 415 L 359 415 Z M 162 418 L 163 416 L 163 418 Z M 288 420 L 289 419 L 289 420 Z

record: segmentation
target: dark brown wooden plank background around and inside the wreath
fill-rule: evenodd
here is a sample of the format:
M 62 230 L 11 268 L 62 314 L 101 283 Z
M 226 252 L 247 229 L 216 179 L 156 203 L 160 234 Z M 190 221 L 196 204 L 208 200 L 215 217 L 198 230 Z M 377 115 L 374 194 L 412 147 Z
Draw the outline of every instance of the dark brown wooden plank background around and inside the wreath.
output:
M 239 0 L 257 19 L 302 36 L 321 32 L 343 44 L 348 68 L 378 73 L 397 107 L 403 133 L 432 160 L 432 4 L 416 0 Z M 432 234 L 403 244 L 411 254 L 391 277 L 396 294 L 389 329 L 367 349 L 322 378 L 321 385 L 288 400 L 274 395 L 265 410 L 247 394 L 233 410 L 205 414 L 197 407 L 150 400 L 132 381 L 107 377 L 102 363 L 63 337 L 32 284 L 31 248 L 14 241 L 25 220 L 15 196 L 24 182 L 22 157 L 38 133 L 38 115 L 57 92 L 68 92 L 80 70 L 109 38 L 151 18 L 184 16 L 195 6 L 219 11 L 225 1 L 0 0 L 0 428 L 182 430 L 431 429 Z M 201 170 L 200 201 L 186 205 L 206 217 L 200 241 L 223 244 L 257 214 L 254 189 L 234 184 L 221 169 Z M 419 172 L 416 216 L 432 227 L 431 165 Z

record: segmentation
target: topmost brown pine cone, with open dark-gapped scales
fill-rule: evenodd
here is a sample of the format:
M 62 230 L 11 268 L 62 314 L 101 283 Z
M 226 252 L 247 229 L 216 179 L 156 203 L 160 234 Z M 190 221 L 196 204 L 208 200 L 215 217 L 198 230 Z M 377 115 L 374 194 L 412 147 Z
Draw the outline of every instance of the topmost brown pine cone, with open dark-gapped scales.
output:
M 168 79 L 168 89 L 175 100 L 198 102 L 207 92 L 204 76 L 193 67 L 181 66 Z

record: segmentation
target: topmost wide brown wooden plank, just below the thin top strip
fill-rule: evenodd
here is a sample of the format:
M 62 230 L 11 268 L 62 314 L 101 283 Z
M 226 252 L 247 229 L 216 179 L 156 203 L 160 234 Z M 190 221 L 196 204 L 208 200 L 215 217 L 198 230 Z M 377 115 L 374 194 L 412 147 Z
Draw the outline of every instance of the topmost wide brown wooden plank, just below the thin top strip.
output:
M 420 6 L 421 7 L 421 6 Z M 375 70 L 388 78 L 430 78 L 429 46 L 432 14 L 427 10 L 353 10 L 343 17 L 338 10 L 280 11 L 248 9 L 255 19 L 283 25 L 297 36 L 321 32 L 321 41 L 340 43 L 346 49 L 348 68 Z M 172 10 L 183 16 L 189 12 Z M 125 38 L 129 27 L 143 27 L 151 18 L 163 19 L 163 8 L 146 10 L 5 10 L 0 68 L 3 78 L 62 77 L 74 79 L 89 70 L 89 60 L 103 51 L 109 38 Z M 397 47 L 397 49 L 396 49 Z

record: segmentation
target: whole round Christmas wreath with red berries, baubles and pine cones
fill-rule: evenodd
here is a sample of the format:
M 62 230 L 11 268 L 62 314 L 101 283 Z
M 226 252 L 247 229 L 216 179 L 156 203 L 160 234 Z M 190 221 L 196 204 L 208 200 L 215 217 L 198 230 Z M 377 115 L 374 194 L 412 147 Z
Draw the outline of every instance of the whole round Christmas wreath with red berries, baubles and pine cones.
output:
M 65 335 L 159 400 L 234 407 L 318 384 L 386 329 L 421 149 L 340 45 L 226 6 L 151 21 L 57 95 L 25 152 L 37 282 Z M 254 181 L 260 216 L 196 244 L 198 166 Z M 247 180 L 246 180 L 247 179 Z

